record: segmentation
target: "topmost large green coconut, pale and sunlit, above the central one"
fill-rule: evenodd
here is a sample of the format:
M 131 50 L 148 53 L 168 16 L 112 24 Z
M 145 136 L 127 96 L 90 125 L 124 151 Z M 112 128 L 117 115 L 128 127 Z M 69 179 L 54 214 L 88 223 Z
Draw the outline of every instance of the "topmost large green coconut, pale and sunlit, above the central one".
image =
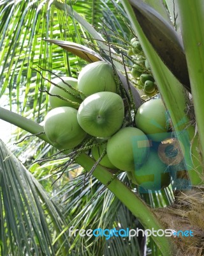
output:
M 86 96 L 96 92 L 117 92 L 112 65 L 96 61 L 82 68 L 78 75 L 78 90 Z M 82 97 L 84 99 L 85 97 Z

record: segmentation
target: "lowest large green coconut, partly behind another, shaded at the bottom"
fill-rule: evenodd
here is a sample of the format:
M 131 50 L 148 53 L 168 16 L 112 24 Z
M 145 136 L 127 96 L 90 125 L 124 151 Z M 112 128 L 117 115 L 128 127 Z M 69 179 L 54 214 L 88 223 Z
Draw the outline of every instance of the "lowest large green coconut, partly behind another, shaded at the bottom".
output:
M 145 189 L 160 190 L 169 186 L 171 176 L 168 167 L 159 158 L 157 152 L 150 149 L 149 157 L 140 168 L 133 172 L 133 180 Z

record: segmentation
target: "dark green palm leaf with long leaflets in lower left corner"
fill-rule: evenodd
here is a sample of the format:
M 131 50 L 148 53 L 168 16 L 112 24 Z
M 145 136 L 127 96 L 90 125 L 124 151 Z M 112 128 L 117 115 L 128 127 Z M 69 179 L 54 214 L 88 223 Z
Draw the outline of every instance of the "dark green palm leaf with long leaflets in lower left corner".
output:
M 59 207 L 2 141 L 0 193 L 1 255 L 54 255 L 52 234 L 66 225 Z

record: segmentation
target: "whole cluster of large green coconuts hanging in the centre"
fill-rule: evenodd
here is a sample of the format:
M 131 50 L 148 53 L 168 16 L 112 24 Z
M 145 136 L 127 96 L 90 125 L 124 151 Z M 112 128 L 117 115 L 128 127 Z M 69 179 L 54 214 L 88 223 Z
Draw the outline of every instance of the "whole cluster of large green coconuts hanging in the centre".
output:
M 124 100 L 118 90 L 112 65 L 106 61 L 85 66 L 78 79 L 54 79 L 45 134 L 54 147 L 69 151 L 83 148 L 93 138 L 91 156 L 100 160 L 99 164 L 127 172 L 129 179 L 142 188 L 164 188 L 170 184 L 170 175 L 152 147 L 152 141 L 159 144 L 168 137 L 163 102 L 145 102 L 132 124 L 127 125 Z

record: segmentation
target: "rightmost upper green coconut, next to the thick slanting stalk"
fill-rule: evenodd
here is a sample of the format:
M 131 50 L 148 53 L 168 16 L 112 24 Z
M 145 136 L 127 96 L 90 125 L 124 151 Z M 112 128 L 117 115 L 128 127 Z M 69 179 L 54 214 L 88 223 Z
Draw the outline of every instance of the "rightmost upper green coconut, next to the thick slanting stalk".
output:
M 168 115 L 161 99 L 151 99 L 140 106 L 135 116 L 135 124 L 153 141 L 169 137 Z

